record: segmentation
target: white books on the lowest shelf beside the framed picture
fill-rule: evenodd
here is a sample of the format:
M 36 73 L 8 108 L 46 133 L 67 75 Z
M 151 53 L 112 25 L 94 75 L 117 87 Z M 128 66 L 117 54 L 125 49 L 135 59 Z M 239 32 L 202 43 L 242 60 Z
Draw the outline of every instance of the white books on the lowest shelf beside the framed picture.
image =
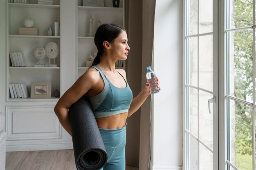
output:
M 29 92 L 27 90 L 26 83 L 10 83 L 9 90 L 10 90 L 11 98 L 29 97 Z

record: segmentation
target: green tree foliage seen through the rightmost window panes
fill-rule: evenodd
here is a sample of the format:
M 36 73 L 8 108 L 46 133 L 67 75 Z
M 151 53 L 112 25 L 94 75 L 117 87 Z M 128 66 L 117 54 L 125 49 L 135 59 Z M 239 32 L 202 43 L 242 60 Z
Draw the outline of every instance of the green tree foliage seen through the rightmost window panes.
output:
M 252 26 L 252 0 L 234 0 L 233 10 L 236 28 Z M 247 101 L 253 98 L 252 36 L 252 29 L 237 31 L 233 39 L 235 96 Z M 236 154 L 252 155 L 252 114 L 252 107 L 235 103 Z

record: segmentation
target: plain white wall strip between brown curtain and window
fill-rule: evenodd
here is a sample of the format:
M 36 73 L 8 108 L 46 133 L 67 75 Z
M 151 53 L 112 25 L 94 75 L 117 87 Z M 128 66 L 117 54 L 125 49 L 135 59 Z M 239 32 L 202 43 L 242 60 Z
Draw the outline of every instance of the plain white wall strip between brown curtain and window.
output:
M 150 170 L 182 170 L 182 0 L 156 0 Z

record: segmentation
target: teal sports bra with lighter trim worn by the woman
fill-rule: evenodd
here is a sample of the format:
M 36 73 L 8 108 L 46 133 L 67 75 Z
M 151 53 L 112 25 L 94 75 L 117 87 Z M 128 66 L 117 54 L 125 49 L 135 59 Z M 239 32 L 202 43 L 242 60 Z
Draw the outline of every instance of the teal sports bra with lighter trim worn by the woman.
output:
M 132 102 L 132 91 L 127 81 L 124 79 L 126 82 L 125 88 L 115 87 L 97 65 L 92 67 L 99 71 L 104 81 L 103 90 L 96 96 L 89 98 L 95 118 L 128 112 Z M 122 74 L 120 75 L 122 76 Z M 124 78 L 124 76 L 122 77 Z

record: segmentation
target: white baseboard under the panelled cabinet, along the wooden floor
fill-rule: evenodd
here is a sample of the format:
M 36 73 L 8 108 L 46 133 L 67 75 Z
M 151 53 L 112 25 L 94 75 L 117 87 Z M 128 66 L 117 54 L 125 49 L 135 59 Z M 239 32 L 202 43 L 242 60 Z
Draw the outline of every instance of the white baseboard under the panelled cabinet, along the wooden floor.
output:
M 29 144 L 29 145 L 7 145 L 6 152 L 33 151 L 33 150 L 63 150 L 73 149 L 72 143 L 63 144 Z

